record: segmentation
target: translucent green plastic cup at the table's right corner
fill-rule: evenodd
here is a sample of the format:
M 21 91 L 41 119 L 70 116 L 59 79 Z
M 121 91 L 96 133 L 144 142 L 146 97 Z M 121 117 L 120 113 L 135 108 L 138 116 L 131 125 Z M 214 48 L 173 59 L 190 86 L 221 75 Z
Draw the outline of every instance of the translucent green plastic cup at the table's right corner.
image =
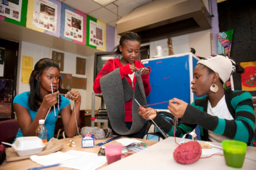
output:
M 242 168 L 244 164 L 247 143 L 234 140 L 222 141 L 225 162 L 227 166 Z

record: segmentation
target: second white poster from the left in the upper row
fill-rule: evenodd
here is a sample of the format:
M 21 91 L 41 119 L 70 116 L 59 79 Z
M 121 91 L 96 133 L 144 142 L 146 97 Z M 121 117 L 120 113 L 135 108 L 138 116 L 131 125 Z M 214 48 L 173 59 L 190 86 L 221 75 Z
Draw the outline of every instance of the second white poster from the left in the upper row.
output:
M 56 33 L 57 4 L 47 0 L 35 0 L 32 25 Z

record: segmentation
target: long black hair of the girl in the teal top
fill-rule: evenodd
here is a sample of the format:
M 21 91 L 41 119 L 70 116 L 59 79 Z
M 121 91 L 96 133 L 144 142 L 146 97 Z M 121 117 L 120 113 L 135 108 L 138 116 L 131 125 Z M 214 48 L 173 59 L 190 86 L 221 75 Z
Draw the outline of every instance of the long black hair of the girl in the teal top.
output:
M 60 67 L 58 66 L 58 63 L 56 63 L 53 59 L 50 58 L 42 58 L 40 59 L 29 78 L 29 85 L 30 85 L 30 94 L 28 97 L 28 104 L 29 107 L 33 111 L 37 111 L 37 109 L 40 107 L 40 104 L 38 102 L 42 102 L 42 97 L 40 95 L 40 76 L 43 72 L 47 71 L 50 67 L 55 67 L 60 71 Z M 61 88 L 62 80 L 60 77 L 60 81 L 58 83 L 58 88 Z M 58 90 L 59 90 L 58 89 Z M 57 105 L 57 104 L 56 104 Z

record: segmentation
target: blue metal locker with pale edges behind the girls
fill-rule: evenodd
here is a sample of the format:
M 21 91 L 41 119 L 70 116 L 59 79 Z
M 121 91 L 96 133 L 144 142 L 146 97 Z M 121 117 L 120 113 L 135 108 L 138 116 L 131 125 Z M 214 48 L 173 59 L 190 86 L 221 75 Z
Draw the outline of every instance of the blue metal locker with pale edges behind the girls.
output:
M 145 67 L 151 68 L 151 93 L 146 98 L 147 104 L 154 104 L 150 107 L 155 109 L 168 109 L 168 101 L 174 97 L 192 103 L 196 96 L 191 91 L 191 81 L 198 60 L 193 53 L 142 60 Z

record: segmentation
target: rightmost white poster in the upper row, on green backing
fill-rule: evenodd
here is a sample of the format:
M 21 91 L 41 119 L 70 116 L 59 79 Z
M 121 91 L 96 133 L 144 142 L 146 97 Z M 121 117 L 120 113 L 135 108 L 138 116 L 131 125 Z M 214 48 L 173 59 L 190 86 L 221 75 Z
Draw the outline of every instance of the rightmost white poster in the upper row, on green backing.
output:
M 89 44 L 91 46 L 103 48 L 103 42 L 104 42 L 103 30 L 104 30 L 104 28 L 101 24 L 90 20 Z

